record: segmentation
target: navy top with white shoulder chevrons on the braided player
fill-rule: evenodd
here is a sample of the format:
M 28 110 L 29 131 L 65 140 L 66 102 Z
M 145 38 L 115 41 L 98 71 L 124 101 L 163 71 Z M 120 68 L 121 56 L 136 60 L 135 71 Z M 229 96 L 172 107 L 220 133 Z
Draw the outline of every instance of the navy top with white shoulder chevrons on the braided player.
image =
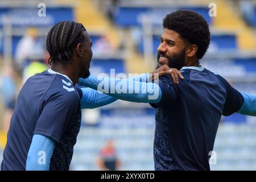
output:
M 1 170 L 25 170 L 34 134 L 56 142 L 50 170 L 68 170 L 81 125 L 79 92 L 65 75 L 51 69 L 26 81 L 11 118 Z

